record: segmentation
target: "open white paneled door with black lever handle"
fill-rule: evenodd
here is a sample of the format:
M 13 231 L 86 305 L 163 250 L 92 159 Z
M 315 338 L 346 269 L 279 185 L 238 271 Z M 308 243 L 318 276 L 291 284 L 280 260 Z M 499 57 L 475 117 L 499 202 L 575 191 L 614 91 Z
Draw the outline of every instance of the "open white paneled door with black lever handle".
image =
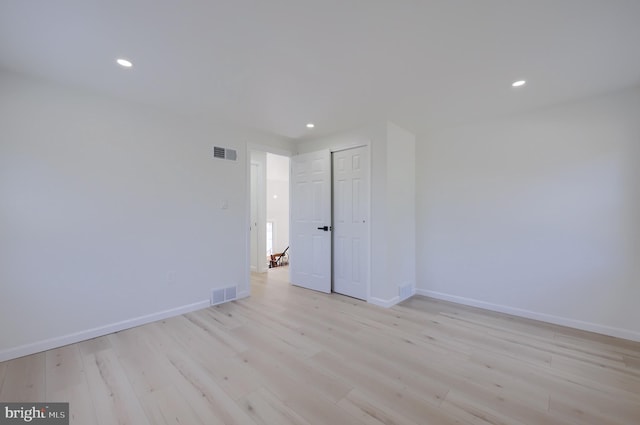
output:
M 290 280 L 331 292 L 331 153 L 291 158 Z

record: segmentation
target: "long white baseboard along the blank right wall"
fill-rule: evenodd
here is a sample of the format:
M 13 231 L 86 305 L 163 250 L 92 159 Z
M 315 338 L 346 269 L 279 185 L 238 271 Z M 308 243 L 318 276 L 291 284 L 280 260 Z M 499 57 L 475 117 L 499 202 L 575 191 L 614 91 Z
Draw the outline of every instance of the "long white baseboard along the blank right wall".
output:
M 570 319 L 568 317 L 554 316 L 551 314 L 538 313 L 536 311 L 524 310 L 500 304 L 492 304 L 486 301 L 459 297 L 457 295 L 444 294 L 442 292 L 429 291 L 427 289 L 418 288 L 416 289 L 416 294 L 436 298 L 443 301 L 451 301 L 457 304 L 468 305 L 471 307 L 483 308 L 485 310 L 497 311 L 499 313 L 511 314 L 513 316 L 524 317 L 527 319 L 539 320 L 541 322 L 553 323 L 554 325 L 567 326 L 569 328 L 595 332 L 603 335 L 613 336 L 616 338 L 628 339 L 631 341 L 640 341 L 640 332 L 632 331 L 629 329 L 614 328 L 612 326 L 600 325 L 598 323 L 592 322 L 584 322 L 582 320 Z

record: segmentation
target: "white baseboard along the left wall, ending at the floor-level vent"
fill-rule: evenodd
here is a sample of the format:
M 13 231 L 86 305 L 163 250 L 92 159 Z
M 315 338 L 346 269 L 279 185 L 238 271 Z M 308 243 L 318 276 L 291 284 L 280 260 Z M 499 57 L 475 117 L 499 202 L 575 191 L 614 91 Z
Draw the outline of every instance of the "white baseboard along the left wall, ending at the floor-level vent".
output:
M 60 337 L 49 338 L 43 341 L 32 342 L 30 344 L 20 345 L 18 347 L 7 348 L 0 351 L 0 362 L 15 359 L 30 354 L 39 353 L 41 351 L 51 350 L 53 348 L 63 347 L 76 342 L 86 341 L 88 339 L 97 338 L 99 336 L 108 335 L 124 329 L 134 328 L 136 326 L 145 325 L 168 317 L 179 316 L 181 314 L 190 313 L 192 311 L 201 310 L 211 305 L 210 300 L 199 301 L 193 304 L 187 304 L 181 307 L 160 311 L 158 313 L 147 314 L 145 316 L 133 319 L 123 320 L 121 322 L 100 326 L 85 331 L 75 332 Z

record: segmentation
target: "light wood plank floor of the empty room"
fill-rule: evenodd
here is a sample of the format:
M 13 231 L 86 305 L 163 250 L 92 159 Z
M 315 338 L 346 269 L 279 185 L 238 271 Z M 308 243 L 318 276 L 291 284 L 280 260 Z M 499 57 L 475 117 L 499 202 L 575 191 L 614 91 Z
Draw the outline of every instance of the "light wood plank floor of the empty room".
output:
M 254 276 L 253 296 L 0 363 L 0 401 L 73 424 L 640 424 L 640 344 L 414 297 Z

